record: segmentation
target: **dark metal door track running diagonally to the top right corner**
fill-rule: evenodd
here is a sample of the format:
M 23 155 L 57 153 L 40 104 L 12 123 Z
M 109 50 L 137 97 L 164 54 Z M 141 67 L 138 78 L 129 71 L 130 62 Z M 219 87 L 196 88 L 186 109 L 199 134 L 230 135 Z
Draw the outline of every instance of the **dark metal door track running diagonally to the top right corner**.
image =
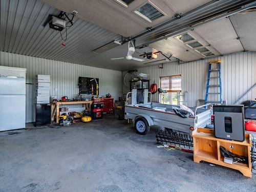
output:
M 211 1 L 186 13 L 177 14 L 163 24 L 147 28 L 144 32 L 135 36 L 127 37 L 121 43 L 125 44 L 128 41 L 137 39 L 138 47 L 141 47 L 253 7 L 256 7 L 256 2 L 251 0 Z M 146 35 L 151 36 L 143 37 Z

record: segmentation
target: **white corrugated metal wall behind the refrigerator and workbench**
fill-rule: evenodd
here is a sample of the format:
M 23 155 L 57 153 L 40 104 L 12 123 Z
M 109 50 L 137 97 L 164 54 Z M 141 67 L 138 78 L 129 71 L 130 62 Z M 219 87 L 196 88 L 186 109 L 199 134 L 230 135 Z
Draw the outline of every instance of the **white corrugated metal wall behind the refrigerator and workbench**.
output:
M 61 62 L 42 59 L 31 56 L 0 52 L 0 65 L 27 69 L 27 96 L 26 96 L 26 122 L 32 122 L 34 116 L 34 94 L 36 74 L 51 76 L 50 95 L 75 98 L 78 94 L 78 76 L 99 78 L 99 96 L 110 93 L 118 99 L 122 93 L 121 71 L 102 69 L 90 66 L 77 65 L 69 62 Z M 57 88 L 57 91 L 54 91 Z M 78 107 L 78 106 L 77 106 Z

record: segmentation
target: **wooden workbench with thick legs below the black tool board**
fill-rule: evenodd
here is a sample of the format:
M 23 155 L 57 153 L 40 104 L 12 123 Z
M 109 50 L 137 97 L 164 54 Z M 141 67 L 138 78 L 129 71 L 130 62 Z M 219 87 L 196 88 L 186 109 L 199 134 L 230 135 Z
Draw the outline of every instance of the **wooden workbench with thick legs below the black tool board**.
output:
M 92 103 L 93 101 L 53 101 L 51 102 L 51 121 L 54 121 L 54 115 L 56 115 L 56 123 L 59 123 L 59 105 L 82 104 L 82 107 L 90 112 Z

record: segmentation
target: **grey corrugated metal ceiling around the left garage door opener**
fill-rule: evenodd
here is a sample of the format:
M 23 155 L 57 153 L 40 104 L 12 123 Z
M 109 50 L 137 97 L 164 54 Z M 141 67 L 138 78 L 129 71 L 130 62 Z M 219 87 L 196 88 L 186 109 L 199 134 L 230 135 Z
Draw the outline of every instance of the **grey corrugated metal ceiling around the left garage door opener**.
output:
M 115 70 L 143 66 L 139 61 L 110 59 L 125 56 L 127 45 L 118 46 L 103 54 L 92 52 L 119 39 L 120 36 L 116 33 L 75 17 L 74 26 L 68 28 L 66 47 L 62 47 L 63 40 L 59 32 L 50 29 L 48 25 L 42 27 L 47 16 L 57 15 L 59 10 L 36 0 L 1 0 L 0 3 L 0 51 Z M 62 33 L 65 36 L 65 32 Z M 138 57 L 139 53 L 134 56 Z

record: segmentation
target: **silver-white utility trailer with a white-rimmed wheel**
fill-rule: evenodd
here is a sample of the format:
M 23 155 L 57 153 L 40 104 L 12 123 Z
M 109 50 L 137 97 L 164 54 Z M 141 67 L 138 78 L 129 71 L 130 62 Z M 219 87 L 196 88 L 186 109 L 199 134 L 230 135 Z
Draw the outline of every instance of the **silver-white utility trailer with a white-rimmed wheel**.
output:
M 205 109 L 205 106 L 209 104 L 197 106 L 196 108 L 190 107 L 189 109 L 195 115 L 182 118 L 173 110 L 173 107 L 180 108 L 179 105 L 151 102 L 151 97 L 150 102 L 147 102 L 147 90 L 144 92 L 144 103 L 140 104 L 137 104 L 137 90 L 127 93 L 126 101 L 129 94 L 132 94 L 132 102 L 125 105 L 124 118 L 134 122 L 134 127 L 140 135 L 146 135 L 152 125 L 191 134 L 197 127 L 205 127 L 210 124 L 212 111 L 211 109 Z

